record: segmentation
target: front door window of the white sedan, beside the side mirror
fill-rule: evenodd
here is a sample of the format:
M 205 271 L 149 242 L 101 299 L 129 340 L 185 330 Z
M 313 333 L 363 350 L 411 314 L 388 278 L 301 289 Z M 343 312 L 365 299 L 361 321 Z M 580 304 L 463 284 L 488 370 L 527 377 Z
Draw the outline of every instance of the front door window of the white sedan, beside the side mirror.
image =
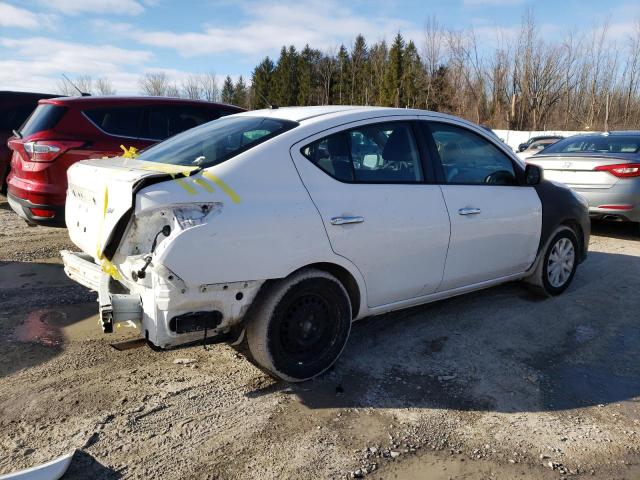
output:
M 513 164 L 498 147 L 465 128 L 430 123 L 447 183 L 515 185 Z

